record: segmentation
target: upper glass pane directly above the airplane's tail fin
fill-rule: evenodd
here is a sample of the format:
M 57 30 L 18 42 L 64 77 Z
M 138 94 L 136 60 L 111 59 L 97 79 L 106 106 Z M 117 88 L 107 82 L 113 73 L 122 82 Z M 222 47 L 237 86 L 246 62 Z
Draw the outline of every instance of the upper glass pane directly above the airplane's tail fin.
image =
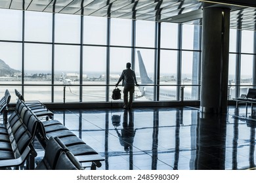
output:
M 155 22 L 136 21 L 136 46 L 154 48 Z

